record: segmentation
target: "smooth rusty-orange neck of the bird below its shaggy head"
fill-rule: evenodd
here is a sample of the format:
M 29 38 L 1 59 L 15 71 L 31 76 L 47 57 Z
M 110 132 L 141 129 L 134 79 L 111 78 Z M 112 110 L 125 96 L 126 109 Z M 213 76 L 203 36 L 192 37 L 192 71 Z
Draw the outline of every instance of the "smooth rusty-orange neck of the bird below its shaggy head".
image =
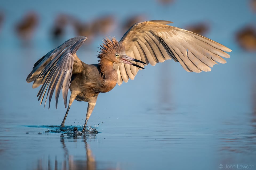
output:
M 117 83 L 117 71 L 113 68 L 113 62 L 101 59 L 99 60 L 99 65 L 104 82 L 114 88 Z

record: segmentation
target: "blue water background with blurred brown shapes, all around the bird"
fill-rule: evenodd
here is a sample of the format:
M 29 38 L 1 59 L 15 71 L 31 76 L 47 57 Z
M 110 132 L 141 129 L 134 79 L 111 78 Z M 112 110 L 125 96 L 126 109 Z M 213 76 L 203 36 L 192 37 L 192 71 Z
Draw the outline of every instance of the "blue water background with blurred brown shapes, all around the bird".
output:
M 231 57 L 209 73 L 174 61 L 146 66 L 99 95 L 88 124 L 104 122 L 100 133 L 57 133 L 63 100 L 57 110 L 39 106 L 39 89 L 26 83 L 33 64 L 80 35 L 88 39 L 78 57 L 97 63 L 105 36 L 120 40 L 146 20 L 172 21 L 232 49 Z M 255 0 L 2 1 L 0 41 L 3 169 L 256 168 Z M 74 101 L 66 125 L 83 125 L 86 108 Z

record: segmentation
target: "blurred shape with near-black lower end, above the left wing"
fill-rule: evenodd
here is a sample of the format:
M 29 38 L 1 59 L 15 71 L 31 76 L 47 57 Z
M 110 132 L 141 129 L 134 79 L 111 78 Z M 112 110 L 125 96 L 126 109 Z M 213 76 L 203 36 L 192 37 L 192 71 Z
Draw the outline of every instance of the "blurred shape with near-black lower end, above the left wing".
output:
M 65 34 L 65 28 L 69 23 L 69 16 L 65 14 L 59 14 L 54 21 L 54 25 L 51 28 L 51 34 L 54 39 L 59 39 Z

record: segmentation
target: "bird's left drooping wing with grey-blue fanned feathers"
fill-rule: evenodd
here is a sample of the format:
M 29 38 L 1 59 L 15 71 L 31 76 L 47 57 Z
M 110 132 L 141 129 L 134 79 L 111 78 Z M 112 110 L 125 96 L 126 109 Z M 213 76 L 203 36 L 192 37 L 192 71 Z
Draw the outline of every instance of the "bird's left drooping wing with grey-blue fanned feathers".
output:
M 51 98 L 55 90 L 57 109 L 59 93 L 62 88 L 64 104 L 67 107 L 67 93 L 69 91 L 72 73 L 79 72 L 79 68 L 81 69 L 82 66 L 81 60 L 77 57 L 76 52 L 86 39 L 87 37 L 85 36 L 69 39 L 62 45 L 51 50 L 34 64 L 33 70 L 27 77 L 27 82 L 34 81 L 33 88 L 42 85 L 37 95 L 38 100 L 41 99 L 40 104 L 42 104 L 48 88 L 46 100 L 49 95 L 50 108 Z

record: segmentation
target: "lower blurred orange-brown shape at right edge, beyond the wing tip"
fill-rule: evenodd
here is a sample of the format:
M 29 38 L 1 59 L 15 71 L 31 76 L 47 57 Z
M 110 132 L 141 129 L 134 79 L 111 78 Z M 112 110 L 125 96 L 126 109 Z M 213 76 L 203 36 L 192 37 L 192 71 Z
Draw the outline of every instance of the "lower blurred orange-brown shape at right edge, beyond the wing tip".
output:
M 256 52 L 256 28 L 247 25 L 236 33 L 238 44 L 246 51 Z

